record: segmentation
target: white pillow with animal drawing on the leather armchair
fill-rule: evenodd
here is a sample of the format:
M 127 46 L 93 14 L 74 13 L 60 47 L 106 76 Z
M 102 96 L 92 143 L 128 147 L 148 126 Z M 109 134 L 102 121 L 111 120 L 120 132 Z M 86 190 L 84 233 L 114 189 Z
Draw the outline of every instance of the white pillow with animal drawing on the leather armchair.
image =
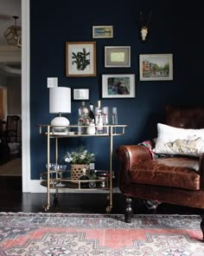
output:
M 175 128 L 157 124 L 157 140 L 154 152 L 157 154 L 186 154 L 200 156 L 204 153 L 204 128 Z

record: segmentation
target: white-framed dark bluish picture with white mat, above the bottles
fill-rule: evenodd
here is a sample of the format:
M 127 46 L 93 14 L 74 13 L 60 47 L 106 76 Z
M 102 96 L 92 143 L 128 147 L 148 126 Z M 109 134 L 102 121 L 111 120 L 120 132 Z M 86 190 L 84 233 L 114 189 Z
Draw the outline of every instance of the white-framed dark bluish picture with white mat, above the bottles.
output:
M 135 75 L 102 75 L 102 98 L 134 98 Z

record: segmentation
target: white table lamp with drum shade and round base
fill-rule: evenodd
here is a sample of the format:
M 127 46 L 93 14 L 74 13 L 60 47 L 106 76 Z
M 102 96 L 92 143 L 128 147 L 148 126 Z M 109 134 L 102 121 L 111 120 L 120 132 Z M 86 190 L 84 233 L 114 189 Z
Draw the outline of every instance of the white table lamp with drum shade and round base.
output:
M 66 127 L 69 121 L 62 113 L 71 113 L 71 89 L 67 87 L 54 87 L 49 89 L 49 113 L 60 114 L 51 121 L 53 126 Z

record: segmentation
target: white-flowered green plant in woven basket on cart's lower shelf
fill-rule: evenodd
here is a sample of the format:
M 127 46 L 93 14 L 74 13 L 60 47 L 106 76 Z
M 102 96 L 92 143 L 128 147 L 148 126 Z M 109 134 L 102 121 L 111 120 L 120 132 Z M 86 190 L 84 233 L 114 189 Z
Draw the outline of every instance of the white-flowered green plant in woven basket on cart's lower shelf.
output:
M 64 161 L 71 164 L 71 180 L 79 180 L 86 168 L 86 174 L 89 174 L 89 164 L 95 161 L 95 154 L 89 153 L 85 146 L 80 146 L 73 152 L 67 152 Z

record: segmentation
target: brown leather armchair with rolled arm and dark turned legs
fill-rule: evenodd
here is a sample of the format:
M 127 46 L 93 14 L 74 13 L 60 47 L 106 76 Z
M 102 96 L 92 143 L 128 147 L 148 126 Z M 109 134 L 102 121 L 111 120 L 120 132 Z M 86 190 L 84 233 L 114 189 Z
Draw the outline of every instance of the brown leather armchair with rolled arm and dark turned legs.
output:
M 204 128 L 204 107 L 168 106 L 166 124 L 176 128 Z M 116 154 L 120 162 L 118 187 L 125 198 L 125 222 L 131 222 L 133 197 L 156 200 L 201 208 L 204 236 L 204 154 L 194 158 L 165 155 L 153 159 L 150 149 L 143 145 L 121 145 Z

